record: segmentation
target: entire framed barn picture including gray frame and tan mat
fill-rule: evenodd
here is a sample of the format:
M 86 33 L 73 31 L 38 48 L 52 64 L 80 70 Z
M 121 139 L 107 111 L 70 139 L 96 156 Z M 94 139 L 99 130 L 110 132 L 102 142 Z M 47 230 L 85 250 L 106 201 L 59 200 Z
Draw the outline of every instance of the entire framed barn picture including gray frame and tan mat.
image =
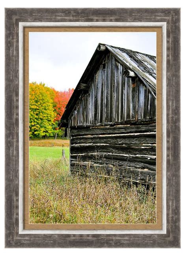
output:
M 6 247 L 180 247 L 180 9 L 5 13 Z

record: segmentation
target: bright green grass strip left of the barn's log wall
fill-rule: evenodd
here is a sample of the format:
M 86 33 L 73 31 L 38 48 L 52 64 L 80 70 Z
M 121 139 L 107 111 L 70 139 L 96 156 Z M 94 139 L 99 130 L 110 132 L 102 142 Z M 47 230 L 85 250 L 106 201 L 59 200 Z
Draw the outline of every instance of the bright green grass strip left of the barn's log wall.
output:
M 65 157 L 69 159 L 69 147 L 29 147 L 30 160 L 59 159 L 62 156 L 62 149 Z

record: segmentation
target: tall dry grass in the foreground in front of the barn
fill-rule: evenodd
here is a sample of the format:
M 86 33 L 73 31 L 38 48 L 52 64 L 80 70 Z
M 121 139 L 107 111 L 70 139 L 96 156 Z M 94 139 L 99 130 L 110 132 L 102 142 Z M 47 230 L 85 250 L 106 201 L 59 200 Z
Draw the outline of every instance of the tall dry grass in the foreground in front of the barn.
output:
M 114 177 L 69 175 L 69 162 L 30 162 L 30 223 L 156 223 L 155 192 Z

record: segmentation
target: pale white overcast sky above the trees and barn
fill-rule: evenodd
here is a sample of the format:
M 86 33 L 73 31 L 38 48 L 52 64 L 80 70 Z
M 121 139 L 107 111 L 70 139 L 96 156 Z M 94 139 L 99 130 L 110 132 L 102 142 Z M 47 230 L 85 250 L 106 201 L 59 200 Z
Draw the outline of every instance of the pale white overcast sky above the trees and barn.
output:
M 75 88 L 98 43 L 156 56 L 156 32 L 30 32 L 29 81 Z

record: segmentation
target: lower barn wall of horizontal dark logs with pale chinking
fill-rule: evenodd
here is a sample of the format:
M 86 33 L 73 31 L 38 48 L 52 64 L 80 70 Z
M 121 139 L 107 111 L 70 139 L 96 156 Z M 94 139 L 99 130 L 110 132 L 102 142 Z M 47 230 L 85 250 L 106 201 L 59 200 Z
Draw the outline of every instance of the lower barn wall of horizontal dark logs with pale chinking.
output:
M 126 180 L 155 183 L 156 124 L 71 128 L 70 169 L 104 169 Z

